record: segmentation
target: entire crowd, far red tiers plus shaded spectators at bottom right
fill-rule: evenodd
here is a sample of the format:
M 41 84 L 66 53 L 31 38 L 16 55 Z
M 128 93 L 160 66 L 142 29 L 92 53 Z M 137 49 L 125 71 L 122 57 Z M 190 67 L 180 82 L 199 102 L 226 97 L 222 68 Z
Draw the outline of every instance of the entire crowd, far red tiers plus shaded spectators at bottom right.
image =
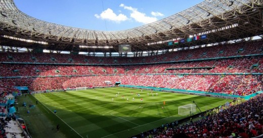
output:
M 224 44 L 151 57 L 135 58 L 4 52 L 0 54 L 0 62 L 73 64 L 156 63 L 260 54 L 262 53 L 262 44 L 262 41 Z M 167 70 L 171 68 L 177 69 Z M 160 74 L 156 75 L 155 73 Z M 189 73 L 189 75 L 182 73 Z M 197 74 L 193 75 L 193 73 Z M 259 56 L 130 66 L 1 64 L 1 77 L 20 77 L 0 78 L 0 91 L 17 91 L 13 86 L 28 86 L 32 91 L 38 91 L 113 86 L 115 82 L 121 82 L 124 85 L 189 89 L 245 96 L 260 91 L 263 87 L 262 75 L 203 75 L 198 73 L 263 73 L 263 59 L 262 56 Z M 174 123 L 166 124 L 145 135 L 154 134 L 155 137 L 172 137 L 174 134 L 184 134 L 184 136 L 194 138 L 228 138 L 235 135 L 245 138 L 257 136 L 262 134 L 263 127 L 262 97 L 263 95 L 261 94 L 230 108 L 208 112 L 205 119 L 186 125 L 176 127 Z

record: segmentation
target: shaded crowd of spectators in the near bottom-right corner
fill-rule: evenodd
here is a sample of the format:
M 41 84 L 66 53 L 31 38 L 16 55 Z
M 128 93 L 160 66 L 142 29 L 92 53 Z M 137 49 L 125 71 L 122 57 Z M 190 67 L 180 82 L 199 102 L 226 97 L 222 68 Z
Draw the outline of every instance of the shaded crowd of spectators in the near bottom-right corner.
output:
M 210 110 L 197 121 L 177 125 L 178 121 L 143 132 L 137 137 L 155 138 L 250 138 L 263 134 L 263 94 L 244 101 L 236 100 L 230 106 Z

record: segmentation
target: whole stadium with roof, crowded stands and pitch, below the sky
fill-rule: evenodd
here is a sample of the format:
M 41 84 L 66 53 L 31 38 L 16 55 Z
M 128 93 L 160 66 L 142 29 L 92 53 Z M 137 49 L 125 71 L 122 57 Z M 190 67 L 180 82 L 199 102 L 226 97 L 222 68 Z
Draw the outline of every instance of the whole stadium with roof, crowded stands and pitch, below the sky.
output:
M 263 137 L 262 0 L 120 31 L 0 8 L 0 137 Z

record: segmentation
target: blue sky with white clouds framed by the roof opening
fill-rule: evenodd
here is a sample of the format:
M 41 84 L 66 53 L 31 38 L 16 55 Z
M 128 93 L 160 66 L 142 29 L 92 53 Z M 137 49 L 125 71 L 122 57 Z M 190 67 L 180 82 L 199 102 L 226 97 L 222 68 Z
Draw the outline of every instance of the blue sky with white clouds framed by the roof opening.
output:
M 77 28 L 115 31 L 148 24 L 203 0 L 14 0 L 25 14 Z

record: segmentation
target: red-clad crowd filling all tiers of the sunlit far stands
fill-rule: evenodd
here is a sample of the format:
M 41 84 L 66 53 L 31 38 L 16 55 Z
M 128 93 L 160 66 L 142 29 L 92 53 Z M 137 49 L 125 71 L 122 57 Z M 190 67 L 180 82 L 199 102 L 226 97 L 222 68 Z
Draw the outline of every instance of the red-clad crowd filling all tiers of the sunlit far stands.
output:
M 77 64 L 152 63 L 259 54 L 262 53 L 262 43 L 262 41 L 252 41 L 224 44 L 137 58 L 89 57 L 48 53 L 1 53 L 0 61 Z M 153 75 L 156 73 L 159 74 Z M 112 85 L 119 81 L 126 85 L 191 89 L 233 95 L 248 95 L 262 90 L 262 75 L 206 75 L 209 73 L 263 73 L 263 59 L 262 56 L 252 56 L 236 59 L 127 66 L 1 64 L 0 77 L 16 76 L 20 78 L 1 78 L 0 90 L 13 91 L 15 90 L 13 86 L 28 86 L 33 91 L 106 86 L 108 84 L 105 81 L 111 81 Z

